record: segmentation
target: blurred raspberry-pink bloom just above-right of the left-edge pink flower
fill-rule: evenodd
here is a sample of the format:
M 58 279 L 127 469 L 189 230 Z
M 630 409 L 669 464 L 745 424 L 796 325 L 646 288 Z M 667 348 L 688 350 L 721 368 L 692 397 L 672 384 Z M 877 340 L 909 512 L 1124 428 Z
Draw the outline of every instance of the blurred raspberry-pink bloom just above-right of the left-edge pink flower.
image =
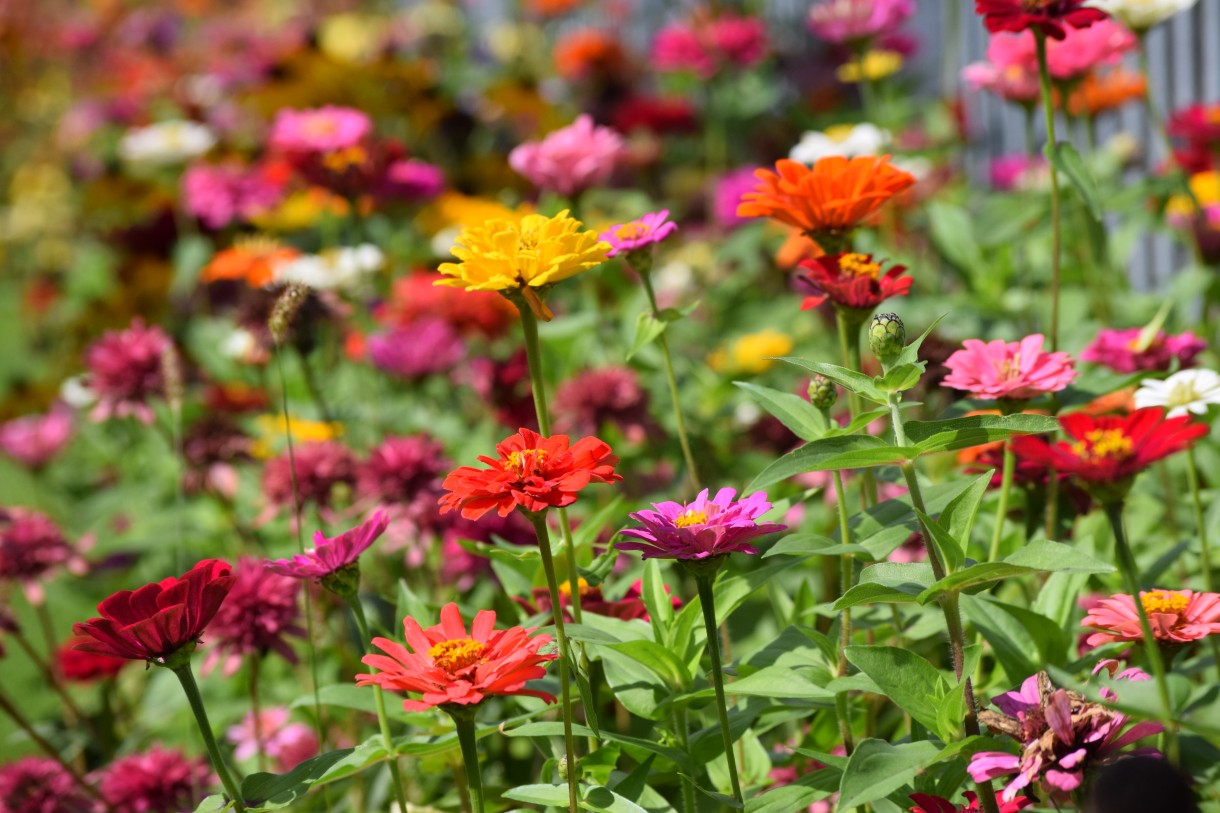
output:
M 98 397 L 92 417 L 104 421 L 128 415 L 152 422 L 148 402 L 163 394 L 161 356 L 171 348 L 160 327 L 144 327 L 140 319 L 126 331 L 106 331 L 85 353 L 89 389 Z

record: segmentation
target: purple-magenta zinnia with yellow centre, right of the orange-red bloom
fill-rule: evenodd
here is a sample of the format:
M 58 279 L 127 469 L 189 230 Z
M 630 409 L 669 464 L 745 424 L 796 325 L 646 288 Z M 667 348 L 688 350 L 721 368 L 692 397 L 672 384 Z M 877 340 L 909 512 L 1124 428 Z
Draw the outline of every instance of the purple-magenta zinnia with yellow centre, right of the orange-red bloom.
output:
M 639 551 L 644 559 L 708 559 L 728 553 L 758 553 L 750 544 L 767 533 L 782 531 L 787 525 L 758 522 L 771 510 L 766 493 L 759 491 L 734 500 L 737 491 L 721 488 L 711 499 L 708 490 L 692 502 L 654 503 L 656 510 L 636 511 L 630 516 L 644 527 L 622 532 L 639 542 L 619 542 L 620 551 Z

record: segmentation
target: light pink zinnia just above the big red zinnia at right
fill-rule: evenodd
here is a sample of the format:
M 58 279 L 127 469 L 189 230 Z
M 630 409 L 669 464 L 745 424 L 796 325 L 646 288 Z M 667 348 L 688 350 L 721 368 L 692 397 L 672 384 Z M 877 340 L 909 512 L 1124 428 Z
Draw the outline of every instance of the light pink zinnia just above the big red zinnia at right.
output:
M 1059 392 L 1076 378 L 1075 361 L 1066 353 L 1043 353 L 1043 336 L 1020 342 L 966 339 L 944 363 L 949 375 L 942 383 L 974 398 L 1026 399 Z

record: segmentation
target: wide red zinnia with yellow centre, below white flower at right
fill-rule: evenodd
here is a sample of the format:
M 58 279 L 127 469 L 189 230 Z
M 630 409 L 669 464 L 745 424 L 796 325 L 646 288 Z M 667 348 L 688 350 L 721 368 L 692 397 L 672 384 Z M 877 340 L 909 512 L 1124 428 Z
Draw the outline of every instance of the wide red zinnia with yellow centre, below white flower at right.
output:
M 1059 419 L 1070 441 L 1013 438 L 1013 452 L 1021 460 L 1054 466 L 1086 483 L 1121 482 L 1149 465 L 1181 452 L 1208 433 L 1188 415 L 1165 417 L 1160 406 L 1137 409 L 1122 416 L 1093 416 L 1072 413 Z

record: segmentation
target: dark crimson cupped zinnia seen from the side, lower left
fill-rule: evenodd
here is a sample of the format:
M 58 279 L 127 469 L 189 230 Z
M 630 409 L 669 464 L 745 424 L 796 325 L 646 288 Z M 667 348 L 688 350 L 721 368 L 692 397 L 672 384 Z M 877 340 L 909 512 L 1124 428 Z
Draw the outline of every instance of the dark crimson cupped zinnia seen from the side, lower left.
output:
M 178 579 L 121 590 L 98 604 L 101 618 L 72 627 L 88 638 L 76 648 L 163 665 L 170 656 L 199 641 L 233 581 L 228 564 L 205 559 Z

